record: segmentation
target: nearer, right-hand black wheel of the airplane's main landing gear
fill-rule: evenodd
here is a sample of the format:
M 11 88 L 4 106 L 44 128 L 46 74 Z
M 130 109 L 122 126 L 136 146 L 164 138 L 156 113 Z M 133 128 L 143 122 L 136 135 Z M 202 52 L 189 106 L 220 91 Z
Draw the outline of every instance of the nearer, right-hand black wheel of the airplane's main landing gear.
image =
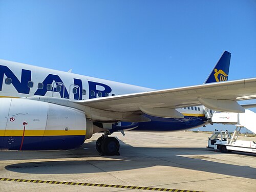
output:
M 108 137 L 102 141 L 101 150 L 104 155 L 117 155 L 119 147 L 119 141 L 115 137 Z

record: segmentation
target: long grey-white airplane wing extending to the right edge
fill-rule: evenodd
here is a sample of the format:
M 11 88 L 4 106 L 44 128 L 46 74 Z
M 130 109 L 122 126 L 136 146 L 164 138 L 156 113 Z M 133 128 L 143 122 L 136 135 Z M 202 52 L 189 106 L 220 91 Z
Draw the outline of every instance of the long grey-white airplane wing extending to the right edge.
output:
M 173 116 L 170 110 L 201 104 L 217 111 L 244 112 L 244 108 L 236 101 L 247 99 L 256 99 L 256 78 L 70 101 L 110 112 L 142 111 L 146 114 L 163 116 L 158 115 L 162 111 L 171 114 L 167 117 L 178 117 L 179 114 L 175 116 L 176 110 L 173 111 Z

